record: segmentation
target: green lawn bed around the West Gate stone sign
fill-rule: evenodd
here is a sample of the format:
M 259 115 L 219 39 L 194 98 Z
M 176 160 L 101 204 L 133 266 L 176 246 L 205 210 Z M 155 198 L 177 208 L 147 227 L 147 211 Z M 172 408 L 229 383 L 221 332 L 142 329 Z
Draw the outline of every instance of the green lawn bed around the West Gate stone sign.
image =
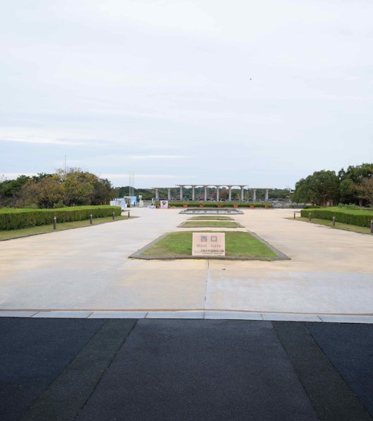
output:
M 191 231 L 172 232 L 144 250 L 141 256 L 191 256 L 192 234 Z M 242 259 L 278 257 L 249 232 L 225 232 L 225 256 Z

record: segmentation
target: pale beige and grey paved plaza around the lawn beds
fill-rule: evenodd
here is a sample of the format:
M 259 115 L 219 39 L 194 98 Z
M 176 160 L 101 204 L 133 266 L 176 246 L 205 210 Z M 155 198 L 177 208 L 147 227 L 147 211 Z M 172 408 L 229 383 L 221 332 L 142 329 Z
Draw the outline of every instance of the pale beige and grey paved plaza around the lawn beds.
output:
M 128 256 L 185 230 L 177 225 L 189 215 L 131 214 L 139 218 L 0 242 L 0 313 L 372 320 L 373 236 L 286 219 L 291 209 L 244 209 L 235 220 L 291 260 L 143 261 Z

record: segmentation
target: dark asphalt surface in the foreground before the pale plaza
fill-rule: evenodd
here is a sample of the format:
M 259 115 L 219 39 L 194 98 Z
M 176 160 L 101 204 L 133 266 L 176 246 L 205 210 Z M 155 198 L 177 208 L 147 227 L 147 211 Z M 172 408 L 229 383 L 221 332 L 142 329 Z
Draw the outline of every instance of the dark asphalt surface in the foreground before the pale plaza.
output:
M 0 319 L 0 420 L 373 417 L 373 325 Z

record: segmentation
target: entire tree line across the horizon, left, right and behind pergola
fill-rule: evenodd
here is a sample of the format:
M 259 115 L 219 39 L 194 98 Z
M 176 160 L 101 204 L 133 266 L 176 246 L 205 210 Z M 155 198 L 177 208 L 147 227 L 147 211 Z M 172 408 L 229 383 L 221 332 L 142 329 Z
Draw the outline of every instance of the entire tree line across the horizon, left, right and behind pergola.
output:
M 203 188 L 196 188 L 196 198 L 203 198 Z M 0 179 L 0 206 L 16 208 L 61 208 L 64 206 L 107 204 L 114 197 L 127 196 L 129 186 L 114 188 L 108 179 L 102 179 L 79 168 L 57 170 L 53 174 L 40 173 L 16 179 Z M 153 189 L 135 189 L 143 200 L 154 198 Z M 175 198 L 179 189 L 171 191 Z M 216 194 L 216 193 L 215 193 Z M 220 190 L 220 198 L 227 198 L 227 189 Z M 239 199 L 239 189 L 232 189 L 232 199 Z M 167 197 L 167 189 L 160 191 Z M 191 189 L 184 189 L 184 198 L 191 198 Z M 262 197 L 263 196 L 263 197 Z M 264 198 L 264 190 L 256 191 L 256 198 Z M 272 189 L 269 198 L 290 198 L 288 189 Z M 295 184 L 292 195 L 295 203 L 312 203 L 318 206 L 353 203 L 373 205 L 373 164 L 350 165 L 335 171 L 321 170 Z

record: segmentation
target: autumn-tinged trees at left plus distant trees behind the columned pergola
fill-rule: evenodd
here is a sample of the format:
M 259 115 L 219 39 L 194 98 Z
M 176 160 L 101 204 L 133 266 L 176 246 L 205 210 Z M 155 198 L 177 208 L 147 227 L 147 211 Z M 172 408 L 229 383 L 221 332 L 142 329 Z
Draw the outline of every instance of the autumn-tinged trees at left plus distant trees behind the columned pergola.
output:
M 102 179 L 91 172 L 79 168 L 57 170 L 53 174 L 39 173 L 28 177 L 20 175 L 16 179 L 1 179 L 0 177 L 0 207 L 14 208 L 61 208 L 64 206 L 101 205 L 107 204 L 112 198 L 129 196 L 130 187 L 113 187 L 108 179 Z M 136 196 L 150 201 L 155 198 L 154 189 L 134 189 Z M 167 189 L 160 189 L 161 198 L 167 198 Z M 220 198 L 228 198 L 228 190 L 220 189 Z M 264 189 L 256 190 L 256 199 L 264 200 Z M 232 200 L 239 200 L 240 190 L 232 189 Z M 252 191 L 245 190 L 245 198 Z M 179 198 L 179 187 L 171 189 L 172 200 Z M 184 199 L 191 200 L 191 188 L 184 188 Z M 203 200 L 203 187 L 196 187 L 197 200 Z M 216 189 L 208 194 L 216 198 Z M 289 189 L 271 189 L 271 199 L 290 199 Z

